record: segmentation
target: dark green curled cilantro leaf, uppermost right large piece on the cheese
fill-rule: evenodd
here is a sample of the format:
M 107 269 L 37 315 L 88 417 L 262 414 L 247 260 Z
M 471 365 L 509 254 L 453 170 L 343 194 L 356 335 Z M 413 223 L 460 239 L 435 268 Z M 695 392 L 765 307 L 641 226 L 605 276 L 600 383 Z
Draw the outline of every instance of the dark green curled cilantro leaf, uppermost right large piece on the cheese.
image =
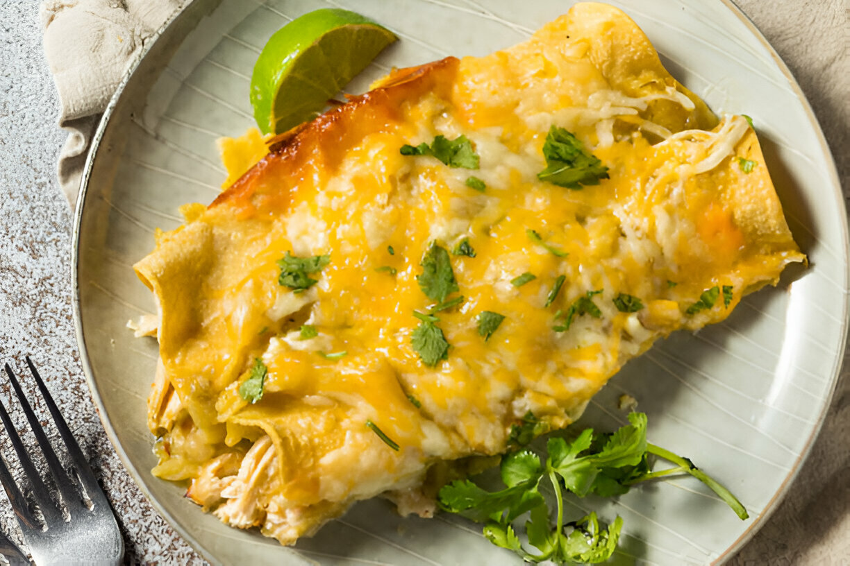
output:
M 547 166 L 537 173 L 537 178 L 559 187 L 598 185 L 599 179 L 608 178 L 608 167 L 587 151 L 577 137 L 558 126 L 549 128 L 543 157 Z

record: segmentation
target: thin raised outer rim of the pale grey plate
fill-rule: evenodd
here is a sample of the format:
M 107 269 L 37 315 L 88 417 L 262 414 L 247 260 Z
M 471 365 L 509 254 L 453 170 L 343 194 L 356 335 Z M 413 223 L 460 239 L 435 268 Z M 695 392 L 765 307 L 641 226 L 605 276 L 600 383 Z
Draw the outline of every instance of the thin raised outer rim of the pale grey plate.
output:
M 160 514 L 161 518 L 165 519 L 167 524 L 175 530 L 178 535 L 180 535 L 184 541 L 199 555 L 201 558 L 204 558 L 209 563 L 218 564 L 221 561 L 212 555 L 207 550 L 207 547 L 202 545 L 200 541 L 195 539 L 195 536 L 191 535 L 187 530 L 184 529 L 182 524 L 174 518 L 171 513 L 167 511 L 165 507 L 161 505 L 161 503 L 154 497 L 150 490 L 147 489 L 144 480 L 142 479 L 141 472 L 137 469 L 133 462 L 131 462 L 130 458 L 127 455 L 127 452 L 124 450 L 124 447 L 119 442 L 118 437 L 116 435 L 115 428 L 111 423 L 111 420 L 107 417 L 106 407 L 100 395 L 99 385 L 94 378 L 94 370 L 91 365 L 91 361 L 88 358 L 88 349 L 86 347 L 86 339 L 83 334 L 82 328 L 82 311 L 80 308 L 80 282 L 78 279 L 79 269 L 80 269 L 80 226 L 82 223 L 82 215 L 86 206 L 86 197 L 88 195 L 88 182 L 90 180 L 92 171 L 94 169 L 94 162 L 97 159 L 99 154 L 99 149 L 101 149 L 101 141 L 104 136 L 105 130 L 107 126 L 110 124 L 110 120 L 113 112 L 118 106 L 119 102 L 122 99 L 122 95 L 124 94 L 125 88 L 127 87 L 128 82 L 133 78 L 135 72 L 139 69 L 139 65 L 143 62 L 144 58 L 150 53 L 150 51 L 159 45 L 162 41 L 163 37 L 167 37 L 169 31 L 175 26 L 175 24 L 181 20 L 183 17 L 188 17 L 187 14 L 190 14 L 191 7 L 197 7 L 204 3 L 211 4 L 212 10 L 218 7 L 218 4 L 221 0 L 190 0 L 189 3 L 186 3 L 182 8 L 178 8 L 169 18 L 168 20 L 161 25 L 160 29 L 154 33 L 150 39 L 145 42 L 144 47 L 139 52 L 136 59 L 133 60 L 133 63 L 128 67 L 127 72 L 122 78 L 122 81 L 119 83 L 116 88 L 116 92 L 112 95 L 109 104 L 107 104 L 104 109 L 103 115 L 99 120 L 99 124 L 97 129 L 94 132 L 94 135 L 91 139 L 91 143 L 88 149 L 88 155 L 86 157 L 85 165 L 82 171 L 82 176 L 80 180 L 80 188 L 77 193 L 77 204 L 74 210 L 74 224 L 73 224 L 73 234 L 71 241 L 71 306 L 73 311 L 73 319 L 74 319 L 74 330 L 75 337 L 77 339 L 77 346 L 80 353 L 80 362 L 82 365 L 83 373 L 86 377 L 86 383 L 88 384 L 88 389 L 91 392 L 92 399 L 94 401 L 94 405 L 98 411 L 98 417 L 100 419 L 100 423 L 103 425 L 105 429 L 105 433 L 109 438 L 114 450 L 116 451 L 116 455 L 121 460 L 124 468 L 127 471 L 127 474 L 130 478 L 133 479 L 133 482 L 137 485 L 139 490 L 144 495 L 145 499 L 150 503 L 151 507 L 156 509 L 156 512 Z M 728 8 L 734 15 L 737 17 L 750 31 L 751 35 L 754 36 L 758 42 L 762 44 L 762 47 L 766 48 L 771 58 L 773 59 L 774 64 L 776 64 L 777 68 L 782 72 L 785 76 L 785 80 L 788 82 L 788 86 L 791 87 L 792 92 L 796 95 L 796 98 L 802 103 L 802 108 L 805 111 L 805 114 L 808 118 L 809 124 L 813 126 L 813 132 L 817 141 L 819 143 L 821 152 L 825 156 L 825 160 L 828 165 L 828 177 L 831 181 L 831 189 L 832 189 L 832 198 L 836 199 L 837 202 L 844 205 L 844 199 L 842 194 L 842 185 L 841 180 L 838 177 L 838 171 L 836 168 L 835 158 L 830 149 L 829 143 L 826 141 L 826 137 L 824 135 L 823 129 L 820 126 L 819 120 L 817 116 L 814 114 L 811 104 L 808 101 L 805 93 L 802 91 L 802 87 L 800 87 L 799 83 L 796 81 L 796 78 L 791 73 L 788 65 L 785 64 L 785 61 L 781 58 L 779 53 L 776 52 L 774 47 L 768 42 L 767 38 L 762 34 L 762 32 L 758 29 L 757 25 L 753 23 L 749 16 L 745 14 L 745 12 L 734 3 L 734 0 L 722 0 L 723 6 Z M 192 28 L 194 29 L 194 28 Z M 190 33 L 191 30 L 187 31 Z M 180 43 L 183 42 L 185 36 L 181 38 Z M 836 351 L 835 361 L 831 370 L 830 380 L 831 384 L 828 392 L 824 396 L 823 406 L 819 412 L 819 415 L 816 418 L 815 424 L 812 427 L 811 434 L 809 434 L 808 439 L 805 441 L 805 445 L 803 446 L 800 453 L 797 455 L 796 460 L 791 466 L 791 471 L 785 476 L 785 479 L 782 481 L 779 488 L 774 492 L 774 495 L 768 501 L 767 505 L 762 510 L 756 518 L 753 519 L 750 525 L 744 530 L 743 533 L 732 542 L 723 552 L 720 552 L 717 558 L 711 561 L 712 566 L 717 564 L 723 564 L 728 561 L 729 558 L 734 556 L 735 553 L 740 552 L 740 550 L 745 546 L 745 544 L 751 540 L 751 538 L 756 535 L 758 530 L 761 530 L 764 524 L 768 521 L 768 519 L 774 514 L 776 509 L 779 507 L 779 503 L 785 499 L 789 490 L 791 489 L 791 485 L 795 482 L 796 478 L 800 474 L 802 469 L 802 464 L 805 462 L 811 454 L 812 448 L 814 446 L 815 440 L 819 437 L 821 430 L 823 429 L 826 416 L 830 410 L 830 406 L 832 404 L 832 400 L 835 396 L 837 384 L 839 382 L 839 378 L 841 377 L 841 370 L 844 362 L 845 353 L 847 350 L 847 335 L 848 328 L 850 328 L 850 321 L 848 321 L 848 311 L 850 311 L 850 238 L 848 238 L 848 223 L 847 223 L 847 209 L 846 206 L 842 207 L 843 214 L 841 216 L 840 230 L 842 232 L 842 259 L 844 261 L 844 271 L 845 271 L 845 281 L 844 281 L 844 300 L 842 305 L 842 326 L 839 334 L 842 337 L 839 348 Z M 301 555 L 298 555 L 296 552 L 292 552 L 292 558 L 303 560 L 304 563 L 308 563 L 307 559 Z

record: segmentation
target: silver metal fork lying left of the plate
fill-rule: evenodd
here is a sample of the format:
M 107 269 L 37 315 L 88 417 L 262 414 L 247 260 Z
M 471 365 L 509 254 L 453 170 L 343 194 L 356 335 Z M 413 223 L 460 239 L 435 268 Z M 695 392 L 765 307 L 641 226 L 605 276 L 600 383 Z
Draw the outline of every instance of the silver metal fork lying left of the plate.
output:
M 38 513 L 33 512 L 20 488 L 14 483 L 12 474 L 9 474 L 3 458 L 0 458 L 0 483 L 3 484 L 8 501 L 12 504 L 14 514 L 18 518 L 20 530 L 32 559 L 37 566 L 46 564 L 62 564 L 63 566 L 118 564 L 124 555 L 124 542 L 109 502 L 106 501 L 106 496 L 100 489 L 97 480 L 94 479 L 94 474 L 88 467 L 88 462 L 82 455 L 77 440 L 74 440 L 71 435 L 71 430 L 68 429 L 65 419 L 59 413 L 59 408 L 54 403 L 47 387 L 44 386 L 44 382 L 36 367 L 32 365 L 29 356 L 26 358 L 26 365 L 30 367 L 32 377 L 35 378 L 44 403 L 48 406 L 56 429 L 59 430 L 59 435 L 65 443 L 73 469 L 77 472 L 78 484 L 82 487 L 81 492 L 77 489 L 77 485 L 71 481 L 71 477 L 69 477 L 65 468 L 62 467 L 53 447 L 50 446 L 47 434 L 44 434 L 44 429 L 38 423 L 36 414 L 32 412 L 30 403 L 26 401 L 26 396 L 20 389 L 20 384 L 12 368 L 5 364 L 9 381 L 18 396 L 26 419 L 30 422 L 30 428 L 36 435 L 38 446 L 41 447 L 50 474 L 53 475 L 54 483 L 59 490 L 59 494 L 54 494 L 54 498 L 51 498 L 48 487 L 44 485 L 41 475 L 26 453 L 26 449 L 20 441 L 20 436 L 8 417 L 6 408 L 0 402 L 0 419 L 3 420 L 3 426 L 12 440 L 12 446 L 18 454 L 21 468 L 24 469 L 24 474 L 29 479 L 32 498 L 35 500 L 41 515 L 39 517 Z M 54 501 L 54 499 L 61 499 L 61 503 Z

